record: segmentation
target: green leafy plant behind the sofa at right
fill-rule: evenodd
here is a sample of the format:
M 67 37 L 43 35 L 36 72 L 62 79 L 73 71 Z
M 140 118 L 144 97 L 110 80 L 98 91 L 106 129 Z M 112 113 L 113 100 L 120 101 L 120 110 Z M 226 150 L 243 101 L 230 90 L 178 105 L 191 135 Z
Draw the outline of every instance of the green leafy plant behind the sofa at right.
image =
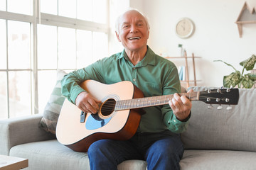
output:
M 222 60 L 214 60 L 213 62 L 223 62 Z M 252 55 L 252 57 L 248 58 L 245 61 L 240 62 L 242 66 L 242 72 L 238 71 L 233 67 L 233 65 L 224 62 L 228 66 L 235 69 L 235 72 L 223 77 L 223 86 L 230 87 L 230 86 L 238 86 L 238 88 L 245 88 L 250 89 L 256 83 L 256 74 L 255 73 L 248 73 L 245 74 L 245 69 L 247 71 L 252 70 L 255 66 L 256 62 L 256 55 Z

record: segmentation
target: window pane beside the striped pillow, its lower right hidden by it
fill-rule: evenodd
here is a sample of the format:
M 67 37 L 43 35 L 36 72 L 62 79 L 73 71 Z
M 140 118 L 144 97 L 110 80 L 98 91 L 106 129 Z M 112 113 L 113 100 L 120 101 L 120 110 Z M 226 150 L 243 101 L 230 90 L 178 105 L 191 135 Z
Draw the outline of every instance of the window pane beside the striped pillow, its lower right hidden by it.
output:
M 56 71 L 38 71 L 38 107 L 43 113 L 56 83 Z

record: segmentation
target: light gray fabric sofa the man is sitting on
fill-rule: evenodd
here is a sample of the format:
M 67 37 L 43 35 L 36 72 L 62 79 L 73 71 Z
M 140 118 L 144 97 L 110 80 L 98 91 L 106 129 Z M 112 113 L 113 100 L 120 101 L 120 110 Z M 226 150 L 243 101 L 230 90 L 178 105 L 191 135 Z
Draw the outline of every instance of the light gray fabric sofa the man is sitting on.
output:
M 203 90 L 196 87 L 195 90 Z M 238 106 L 218 110 L 193 101 L 188 130 L 181 137 L 181 169 L 256 169 L 256 89 L 240 89 Z M 38 127 L 42 115 L 0 120 L 0 154 L 28 159 L 28 169 L 90 169 L 86 153 L 60 145 Z M 118 169 L 146 169 L 130 160 Z

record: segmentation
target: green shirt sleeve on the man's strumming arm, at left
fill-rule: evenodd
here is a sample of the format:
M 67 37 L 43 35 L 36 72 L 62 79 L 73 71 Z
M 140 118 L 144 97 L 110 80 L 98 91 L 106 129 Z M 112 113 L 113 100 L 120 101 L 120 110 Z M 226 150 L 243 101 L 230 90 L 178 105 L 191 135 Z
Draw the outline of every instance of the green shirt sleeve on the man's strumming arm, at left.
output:
M 85 91 L 79 84 L 87 79 L 102 81 L 101 70 L 102 61 L 100 60 L 88 67 L 70 72 L 61 80 L 61 93 L 68 99 L 68 101 L 75 104 L 75 99 L 78 94 Z

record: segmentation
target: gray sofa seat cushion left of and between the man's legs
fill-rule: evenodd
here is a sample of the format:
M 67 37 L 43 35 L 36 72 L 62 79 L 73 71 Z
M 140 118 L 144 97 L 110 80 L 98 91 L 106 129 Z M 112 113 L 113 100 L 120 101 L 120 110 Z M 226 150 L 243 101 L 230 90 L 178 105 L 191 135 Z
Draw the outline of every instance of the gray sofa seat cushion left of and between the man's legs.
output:
M 28 159 L 28 170 L 90 169 L 89 158 L 85 152 L 74 152 L 61 145 L 57 140 L 31 142 L 16 145 L 10 150 L 10 156 Z M 128 160 L 118 165 L 118 170 L 146 170 L 146 162 Z

